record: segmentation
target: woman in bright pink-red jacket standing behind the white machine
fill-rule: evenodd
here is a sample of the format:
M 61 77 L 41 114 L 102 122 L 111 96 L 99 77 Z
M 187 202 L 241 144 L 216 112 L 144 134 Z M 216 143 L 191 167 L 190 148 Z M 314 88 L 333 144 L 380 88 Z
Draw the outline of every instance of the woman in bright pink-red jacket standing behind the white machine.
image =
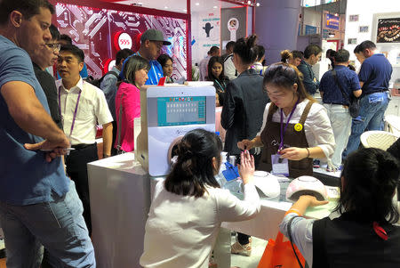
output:
M 125 63 L 124 80 L 116 92 L 116 143 L 115 148 L 134 149 L 133 119 L 140 118 L 140 87 L 148 80 L 148 61 L 133 55 Z

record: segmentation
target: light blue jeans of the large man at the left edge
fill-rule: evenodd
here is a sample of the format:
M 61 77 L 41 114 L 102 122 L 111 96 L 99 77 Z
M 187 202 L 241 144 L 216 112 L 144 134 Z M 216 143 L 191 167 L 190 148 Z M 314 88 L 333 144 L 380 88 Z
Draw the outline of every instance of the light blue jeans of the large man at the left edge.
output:
M 28 206 L 0 202 L 7 268 L 39 267 L 42 245 L 53 267 L 96 266 L 75 183 L 70 182 L 65 196 L 53 193 L 52 199 L 52 202 Z

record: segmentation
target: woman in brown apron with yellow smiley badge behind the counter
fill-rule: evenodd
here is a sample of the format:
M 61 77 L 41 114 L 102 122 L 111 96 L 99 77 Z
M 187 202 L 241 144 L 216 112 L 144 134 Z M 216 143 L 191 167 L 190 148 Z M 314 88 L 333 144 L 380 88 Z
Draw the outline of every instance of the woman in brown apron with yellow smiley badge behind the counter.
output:
M 293 178 L 313 175 L 312 158 L 329 157 L 335 146 L 326 110 L 306 93 L 293 65 L 271 65 L 263 85 L 271 103 L 264 111 L 261 131 L 251 141 L 237 142 L 237 147 L 264 146 L 260 170 Z

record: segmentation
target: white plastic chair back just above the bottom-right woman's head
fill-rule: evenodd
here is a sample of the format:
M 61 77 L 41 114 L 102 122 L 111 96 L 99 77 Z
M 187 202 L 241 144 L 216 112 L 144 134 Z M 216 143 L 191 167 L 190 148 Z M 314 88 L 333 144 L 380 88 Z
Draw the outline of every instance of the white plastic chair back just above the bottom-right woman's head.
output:
M 361 143 L 365 148 L 379 148 L 381 150 L 388 150 L 390 145 L 392 145 L 397 140 L 395 134 L 373 130 L 367 131 L 361 134 Z

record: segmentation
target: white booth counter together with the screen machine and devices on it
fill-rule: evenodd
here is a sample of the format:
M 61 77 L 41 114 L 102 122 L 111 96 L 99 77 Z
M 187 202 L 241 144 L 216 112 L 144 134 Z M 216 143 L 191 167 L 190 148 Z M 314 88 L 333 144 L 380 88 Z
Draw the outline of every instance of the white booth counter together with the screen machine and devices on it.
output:
M 174 145 L 188 131 L 201 127 L 215 130 L 215 89 L 194 82 L 191 85 L 144 86 L 140 89 L 141 122 L 138 148 L 88 164 L 92 209 L 92 242 L 98 267 L 139 267 L 145 224 L 156 182 L 169 173 Z M 222 153 L 226 157 L 226 153 Z M 243 199 L 240 180 L 228 181 L 225 162 L 217 181 Z M 292 179 L 268 172 L 256 172 L 254 182 L 261 197 L 260 215 L 245 222 L 222 223 L 214 246 L 218 267 L 230 267 L 230 231 L 241 231 L 262 240 L 273 239 L 284 213 L 292 206 L 286 189 Z M 334 183 L 337 186 L 339 178 Z M 308 209 L 306 216 L 330 215 L 338 188 L 327 187 L 332 200 L 323 207 Z M 177 215 L 179 216 L 179 215 Z

